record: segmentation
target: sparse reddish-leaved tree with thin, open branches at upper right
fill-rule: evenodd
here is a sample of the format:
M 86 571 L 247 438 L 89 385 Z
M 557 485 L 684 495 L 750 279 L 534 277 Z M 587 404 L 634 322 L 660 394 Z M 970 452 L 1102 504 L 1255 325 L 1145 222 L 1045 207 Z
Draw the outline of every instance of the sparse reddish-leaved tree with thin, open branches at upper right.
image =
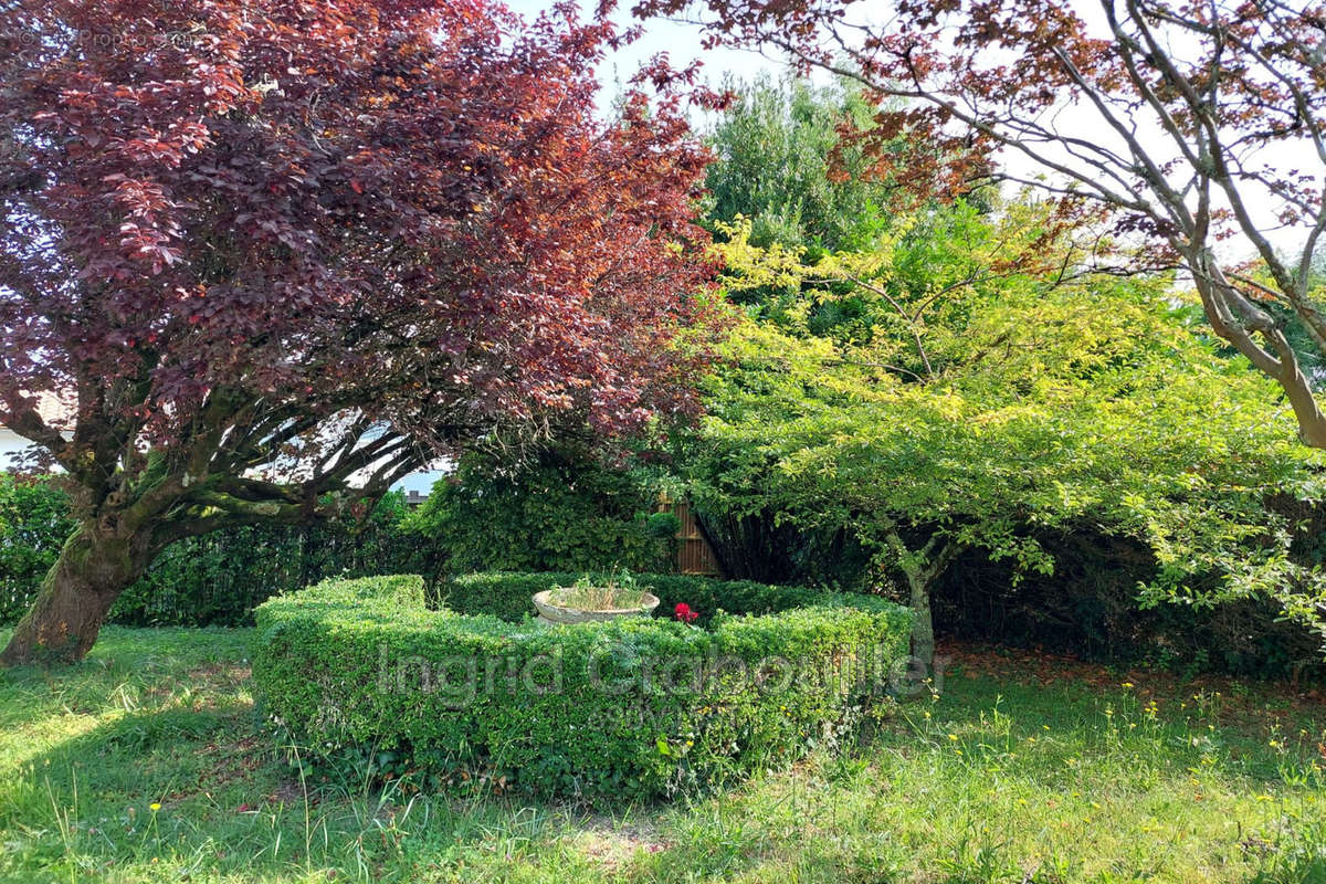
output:
M 886 103 L 855 138 L 876 174 L 918 196 L 993 176 L 1105 207 L 1116 233 L 1143 237 L 1148 266 L 1192 277 L 1215 330 L 1280 384 L 1302 439 L 1326 447 L 1285 326 L 1296 317 L 1326 353 L 1309 289 L 1326 235 L 1321 0 L 640 0 L 634 11 L 695 17 L 711 44 L 772 48 L 859 81 Z M 900 135 L 927 150 L 896 150 Z M 1303 244 L 1292 258 L 1277 249 L 1286 240 Z

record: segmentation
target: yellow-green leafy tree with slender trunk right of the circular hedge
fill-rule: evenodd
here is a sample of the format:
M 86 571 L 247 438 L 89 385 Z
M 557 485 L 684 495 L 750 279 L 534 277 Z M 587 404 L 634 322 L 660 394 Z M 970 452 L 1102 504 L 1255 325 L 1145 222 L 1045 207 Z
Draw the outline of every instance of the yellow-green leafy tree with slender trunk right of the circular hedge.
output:
M 911 236 L 926 227 L 959 235 Z M 728 235 L 733 288 L 806 297 L 780 323 L 736 329 L 684 460 L 688 493 L 849 529 L 906 580 L 918 657 L 955 555 L 1049 573 L 1037 531 L 1077 525 L 1150 546 L 1160 571 L 1143 603 L 1266 594 L 1313 619 L 1317 575 L 1293 565 L 1293 526 L 1265 500 L 1318 498 L 1321 459 L 1290 441 L 1270 380 L 1181 321 L 1167 280 L 1048 273 L 1074 249 L 1034 204 L 899 219 L 873 252 L 815 260 L 753 244 L 745 223 Z M 1010 260 L 1033 252 L 1042 266 Z M 862 322 L 817 334 L 812 306 L 843 288 Z M 1189 588 L 1211 574 L 1219 590 Z

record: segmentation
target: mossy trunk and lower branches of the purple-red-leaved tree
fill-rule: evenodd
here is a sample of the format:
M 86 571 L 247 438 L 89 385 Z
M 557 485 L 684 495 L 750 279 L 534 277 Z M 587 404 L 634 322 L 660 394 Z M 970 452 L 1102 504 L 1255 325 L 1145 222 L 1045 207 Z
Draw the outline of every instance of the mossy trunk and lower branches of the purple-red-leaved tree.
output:
M 111 447 L 90 452 L 86 463 L 66 456 L 61 464 L 78 492 L 78 526 L 0 652 L 0 667 L 82 660 L 119 594 L 175 541 L 223 527 L 308 525 L 370 513 L 420 463 L 420 449 L 408 437 L 385 433 L 359 444 L 365 431 L 355 424 L 328 456 L 330 464 L 302 485 L 232 474 L 267 463 L 269 449 L 280 449 L 306 429 L 301 421 L 285 421 L 278 431 L 260 424 L 251 428 L 257 441 L 248 443 L 256 451 L 227 453 L 221 444 L 229 437 L 213 431 L 195 440 L 187 456 L 149 449 L 122 457 Z M 77 439 L 70 447 L 77 447 Z M 231 472 L 212 472 L 216 459 Z M 370 470 L 370 477 L 351 489 L 346 481 L 357 470 Z

